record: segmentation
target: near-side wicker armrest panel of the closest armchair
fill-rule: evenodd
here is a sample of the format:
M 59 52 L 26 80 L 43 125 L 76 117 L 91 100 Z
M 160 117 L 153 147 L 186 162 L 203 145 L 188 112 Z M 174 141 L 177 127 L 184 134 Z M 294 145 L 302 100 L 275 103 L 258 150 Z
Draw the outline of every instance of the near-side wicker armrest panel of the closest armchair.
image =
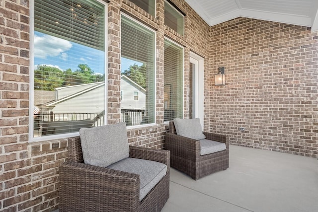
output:
M 64 162 L 60 166 L 62 207 L 68 207 L 68 203 L 81 207 L 93 204 L 107 211 L 115 205 L 119 211 L 130 211 L 139 206 L 139 186 L 140 177 L 137 174 L 74 161 Z

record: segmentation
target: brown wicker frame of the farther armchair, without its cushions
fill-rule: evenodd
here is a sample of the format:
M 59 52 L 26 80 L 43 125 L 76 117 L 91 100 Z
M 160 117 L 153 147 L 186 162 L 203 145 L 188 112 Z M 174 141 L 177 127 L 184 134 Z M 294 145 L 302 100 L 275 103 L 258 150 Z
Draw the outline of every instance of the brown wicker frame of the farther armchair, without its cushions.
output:
M 197 180 L 214 172 L 229 168 L 229 138 L 225 135 L 203 132 L 206 139 L 226 143 L 226 150 L 201 155 L 200 141 L 176 135 L 173 122 L 169 122 L 165 148 L 170 150 L 170 166 Z

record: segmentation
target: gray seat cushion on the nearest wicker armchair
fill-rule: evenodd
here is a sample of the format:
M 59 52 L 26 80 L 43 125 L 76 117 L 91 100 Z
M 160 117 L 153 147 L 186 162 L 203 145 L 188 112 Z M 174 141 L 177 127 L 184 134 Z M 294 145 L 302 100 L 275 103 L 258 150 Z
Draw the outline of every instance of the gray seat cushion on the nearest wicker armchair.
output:
M 167 166 L 163 163 L 132 157 L 118 161 L 107 168 L 140 175 L 140 201 L 144 199 L 167 172 Z

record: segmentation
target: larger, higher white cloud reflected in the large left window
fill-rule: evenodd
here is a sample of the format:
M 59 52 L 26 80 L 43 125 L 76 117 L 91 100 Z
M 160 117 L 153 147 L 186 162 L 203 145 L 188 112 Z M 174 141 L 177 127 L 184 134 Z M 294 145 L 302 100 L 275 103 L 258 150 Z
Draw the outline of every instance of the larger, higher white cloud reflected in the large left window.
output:
M 64 52 L 72 48 L 70 41 L 57 38 L 51 35 L 44 35 L 43 37 L 34 35 L 34 56 L 45 59 L 47 56 L 57 57 L 61 55 L 62 60 L 66 54 Z M 67 55 L 66 55 L 67 56 Z

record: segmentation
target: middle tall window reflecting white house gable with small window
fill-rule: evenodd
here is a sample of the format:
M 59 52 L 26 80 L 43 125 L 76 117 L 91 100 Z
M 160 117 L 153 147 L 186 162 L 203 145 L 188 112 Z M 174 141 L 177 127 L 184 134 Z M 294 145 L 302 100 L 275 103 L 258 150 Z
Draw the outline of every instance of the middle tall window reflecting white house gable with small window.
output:
M 121 23 L 121 121 L 155 123 L 155 32 L 125 15 Z

